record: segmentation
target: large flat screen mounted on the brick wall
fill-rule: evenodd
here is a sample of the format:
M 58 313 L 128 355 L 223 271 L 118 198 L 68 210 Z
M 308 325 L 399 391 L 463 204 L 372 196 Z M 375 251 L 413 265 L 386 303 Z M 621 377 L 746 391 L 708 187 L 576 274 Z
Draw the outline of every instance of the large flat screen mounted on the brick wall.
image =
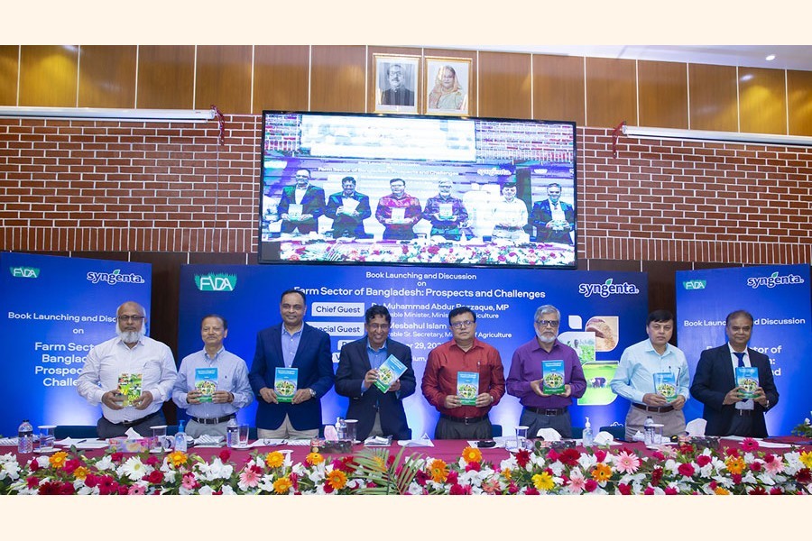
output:
M 263 112 L 259 261 L 575 268 L 576 125 Z

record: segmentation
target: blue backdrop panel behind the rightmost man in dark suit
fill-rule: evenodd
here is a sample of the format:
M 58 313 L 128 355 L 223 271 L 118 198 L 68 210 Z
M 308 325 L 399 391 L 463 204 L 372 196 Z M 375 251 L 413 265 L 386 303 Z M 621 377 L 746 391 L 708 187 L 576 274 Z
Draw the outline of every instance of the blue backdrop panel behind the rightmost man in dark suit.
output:
M 777 265 L 677 272 L 679 348 L 691 379 L 699 354 L 727 342 L 724 317 L 734 310 L 752 313 L 750 347 L 770 357 L 780 400 L 766 415 L 770 435 L 786 435 L 809 417 L 809 266 Z M 702 404 L 688 401 L 686 417 L 702 417 Z

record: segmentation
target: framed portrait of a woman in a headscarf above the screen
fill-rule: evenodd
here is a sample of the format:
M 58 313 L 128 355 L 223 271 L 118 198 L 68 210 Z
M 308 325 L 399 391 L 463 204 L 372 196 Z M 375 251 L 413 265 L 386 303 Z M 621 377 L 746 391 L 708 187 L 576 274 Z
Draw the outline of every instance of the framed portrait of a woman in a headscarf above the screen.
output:
M 469 95 L 474 79 L 473 60 L 451 57 L 426 57 L 426 79 L 423 84 L 423 103 L 427 115 L 470 115 Z M 454 70 L 455 86 L 443 89 L 441 74 L 445 68 Z

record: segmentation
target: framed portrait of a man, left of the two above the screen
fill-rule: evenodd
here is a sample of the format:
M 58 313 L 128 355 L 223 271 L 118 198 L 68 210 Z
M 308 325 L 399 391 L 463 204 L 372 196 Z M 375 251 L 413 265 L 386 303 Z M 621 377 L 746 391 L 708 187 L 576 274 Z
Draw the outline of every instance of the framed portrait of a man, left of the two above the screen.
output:
M 406 101 L 400 104 L 396 102 L 401 98 L 392 99 L 390 92 L 389 70 L 396 64 L 401 66 L 402 87 L 407 93 L 404 95 Z M 375 53 L 373 68 L 374 112 L 417 115 L 420 110 L 420 56 Z

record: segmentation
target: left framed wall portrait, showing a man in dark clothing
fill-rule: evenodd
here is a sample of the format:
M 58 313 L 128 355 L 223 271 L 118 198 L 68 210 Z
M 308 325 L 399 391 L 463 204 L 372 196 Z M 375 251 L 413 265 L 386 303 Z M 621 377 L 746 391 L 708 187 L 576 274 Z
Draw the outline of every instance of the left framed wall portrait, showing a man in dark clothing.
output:
M 420 102 L 420 57 L 375 54 L 375 113 L 415 115 Z

